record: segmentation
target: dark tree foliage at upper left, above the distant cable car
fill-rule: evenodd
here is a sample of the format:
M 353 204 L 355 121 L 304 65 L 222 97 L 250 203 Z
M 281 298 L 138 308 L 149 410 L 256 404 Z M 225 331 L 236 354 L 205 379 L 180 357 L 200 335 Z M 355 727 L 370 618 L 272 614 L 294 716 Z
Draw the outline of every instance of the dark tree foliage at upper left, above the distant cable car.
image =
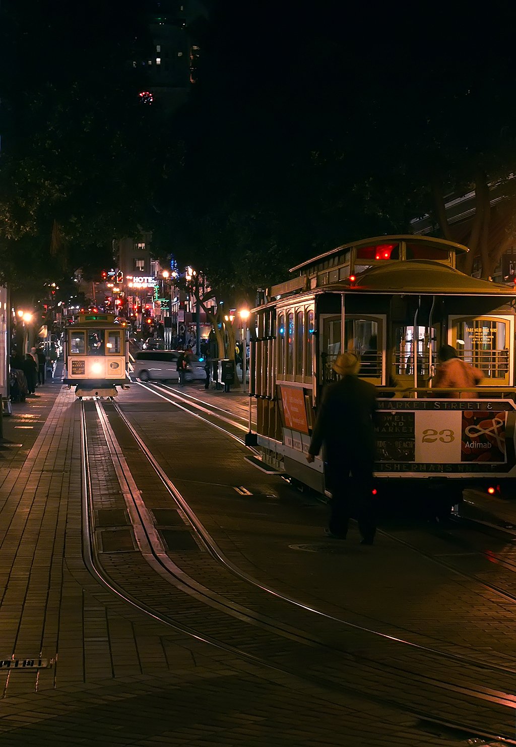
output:
M 132 66 L 138 4 L 3 0 L 0 82 L 2 279 L 69 276 L 110 261 L 147 220 L 158 112 Z

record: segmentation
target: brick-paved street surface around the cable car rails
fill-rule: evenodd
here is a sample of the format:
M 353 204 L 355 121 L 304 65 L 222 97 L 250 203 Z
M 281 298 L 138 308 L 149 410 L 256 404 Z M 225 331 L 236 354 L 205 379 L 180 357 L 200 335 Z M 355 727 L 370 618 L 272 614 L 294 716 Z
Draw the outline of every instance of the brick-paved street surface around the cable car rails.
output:
M 236 393 L 195 394 L 245 409 Z M 0 449 L 2 747 L 459 746 L 514 734 L 510 529 L 397 522 L 373 548 L 354 527 L 329 542 L 326 507 L 249 465 L 234 439 L 138 385 L 118 400 L 226 559 L 302 606 L 209 556 L 106 404 L 179 567 L 174 583 L 156 572 L 126 524 L 127 496 L 87 402 L 94 560 L 122 593 L 102 583 L 83 541 L 80 404 L 48 383 L 13 405 Z

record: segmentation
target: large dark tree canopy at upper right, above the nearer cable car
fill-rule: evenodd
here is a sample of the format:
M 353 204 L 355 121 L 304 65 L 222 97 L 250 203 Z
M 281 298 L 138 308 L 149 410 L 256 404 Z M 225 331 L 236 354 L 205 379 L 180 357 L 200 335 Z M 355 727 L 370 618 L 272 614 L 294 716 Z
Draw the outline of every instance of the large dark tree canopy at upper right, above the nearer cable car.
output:
M 175 123 L 184 174 L 162 195 L 172 251 L 214 282 L 261 285 L 429 212 L 489 274 L 514 207 L 515 10 L 499 10 L 215 3 Z M 505 208 L 490 211 L 497 179 Z M 476 220 L 458 235 L 444 196 L 475 188 Z

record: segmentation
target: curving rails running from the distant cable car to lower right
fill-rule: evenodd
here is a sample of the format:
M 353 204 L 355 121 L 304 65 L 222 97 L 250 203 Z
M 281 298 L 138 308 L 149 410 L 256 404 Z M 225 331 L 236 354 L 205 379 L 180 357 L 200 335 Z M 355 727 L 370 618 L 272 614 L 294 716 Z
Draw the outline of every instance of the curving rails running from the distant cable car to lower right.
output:
M 164 475 L 164 472 L 161 470 L 158 463 L 155 462 L 152 454 L 150 454 L 149 450 L 146 449 L 143 441 L 141 441 L 139 436 L 137 436 L 137 433 L 134 431 L 131 424 L 128 423 L 125 416 L 122 414 L 122 412 L 120 412 L 119 407 L 113 407 L 116 410 L 117 415 L 119 415 L 119 418 L 122 418 L 123 422 L 125 423 L 125 427 L 128 428 L 129 432 L 136 439 L 137 444 L 140 446 L 140 449 L 145 454 L 146 459 L 149 460 L 157 474 L 160 474 L 160 476 L 164 476 L 164 485 L 167 486 L 167 489 L 169 490 L 170 495 L 172 495 L 172 498 L 174 498 L 176 503 L 180 505 L 181 510 L 183 510 L 187 514 L 187 518 L 190 523 L 192 523 L 192 521 L 195 522 L 192 523 L 193 530 L 196 530 L 198 539 L 202 541 L 208 551 L 211 550 L 212 557 L 216 557 L 218 562 L 224 562 L 224 564 L 226 565 L 226 569 L 231 571 L 233 574 L 236 573 L 240 577 L 240 579 L 245 580 L 247 583 L 255 583 L 255 586 L 258 586 L 258 589 L 263 592 L 268 592 L 276 599 L 279 599 L 283 602 L 289 602 L 290 604 L 295 604 L 296 606 L 302 607 L 304 610 L 310 613 L 317 613 L 319 616 L 325 616 L 327 619 L 332 619 L 331 616 L 326 616 L 325 613 L 321 613 L 320 610 L 314 610 L 302 603 L 299 603 L 296 600 L 289 599 L 279 594 L 273 589 L 267 589 L 267 587 L 265 587 L 264 585 L 246 576 L 246 574 L 243 574 L 237 568 L 234 568 L 234 566 L 232 566 L 229 561 L 224 559 L 222 554 L 220 553 L 219 548 L 217 548 L 217 545 L 215 545 L 215 543 L 205 530 L 205 527 L 202 527 L 202 524 L 193 514 L 190 507 L 187 506 L 184 499 L 180 494 L 178 494 L 178 491 L 172 485 L 170 480 L 168 480 L 167 476 Z M 155 619 L 161 620 L 161 622 L 170 625 L 175 630 L 181 630 L 181 632 L 186 633 L 189 636 L 193 636 L 196 639 L 205 641 L 206 643 L 214 645 L 221 650 L 229 651 L 231 652 L 231 654 L 237 655 L 238 657 L 244 657 L 247 660 L 257 663 L 259 666 L 266 666 L 268 668 L 276 669 L 276 671 L 295 675 L 298 678 L 301 677 L 305 681 L 310 681 L 313 684 L 324 686 L 326 689 L 330 687 L 333 692 L 352 692 L 355 695 L 357 694 L 357 692 L 359 692 L 360 695 L 362 695 L 364 698 L 369 698 L 373 701 L 386 704 L 389 707 L 395 707 L 397 710 L 401 709 L 407 713 L 411 713 L 413 716 L 416 716 L 417 719 L 420 719 L 421 722 L 432 722 L 438 725 L 446 725 L 447 728 L 467 731 L 468 734 L 474 734 L 476 738 L 487 737 L 488 740 L 496 740 L 499 743 L 502 742 L 507 744 L 516 744 L 516 740 L 512 740 L 512 738 L 509 736 L 500 737 L 499 734 L 489 734 L 488 732 L 483 731 L 482 728 L 477 728 L 476 725 L 464 725 L 450 722 L 450 720 L 444 719 L 440 715 L 436 716 L 435 713 L 420 713 L 420 709 L 418 709 L 417 707 L 411 707 L 409 703 L 400 703 L 400 701 L 396 700 L 395 698 L 393 699 L 390 697 L 379 696 L 374 692 L 361 692 L 361 688 L 357 686 L 356 681 L 354 682 L 353 686 L 346 684 L 346 680 L 342 680 L 341 677 L 336 676 L 335 672 L 330 673 L 330 675 L 324 672 L 321 674 L 317 671 L 307 672 L 305 669 L 302 669 L 302 671 L 299 672 L 291 666 L 285 666 L 283 663 L 279 665 L 269 657 L 258 657 L 254 654 L 249 654 L 249 651 L 245 651 L 242 648 L 237 648 L 236 646 L 221 641 L 214 636 L 208 636 L 206 635 L 206 633 L 203 633 L 199 629 L 196 630 L 193 627 L 188 626 L 184 622 L 178 623 L 178 621 L 174 619 L 173 615 L 165 614 L 163 612 L 152 609 L 149 604 L 146 604 L 144 601 L 140 601 L 134 598 L 134 596 L 131 595 L 130 592 L 127 592 L 122 588 L 122 586 L 119 586 L 116 581 L 108 577 L 99 562 L 99 548 L 95 539 L 95 524 L 93 519 L 94 500 L 91 492 L 91 471 L 89 463 L 90 436 L 88 435 L 87 417 L 84 411 L 84 404 L 81 405 L 81 415 L 84 461 L 84 515 L 85 527 L 87 528 L 87 531 L 84 533 L 84 557 L 87 561 L 88 567 L 93 572 L 93 574 L 95 574 L 96 577 L 105 586 L 108 586 L 111 591 L 119 595 L 119 597 L 122 597 L 126 601 L 135 605 L 140 610 L 143 610 L 147 614 L 152 615 Z M 123 457 L 122 449 L 120 448 L 118 442 L 116 441 L 116 438 L 114 437 L 114 433 L 111 429 L 111 426 L 109 425 L 105 409 L 100 406 L 98 402 L 96 403 L 96 415 L 98 416 L 100 423 L 102 424 L 102 432 L 104 433 L 106 444 L 108 444 L 109 447 L 110 456 L 114 464 L 116 475 L 120 481 L 120 487 L 126 500 L 126 505 L 128 506 L 128 512 L 131 515 L 131 524 L 133 524 L 134 527 L 134 534 L 137 537 L 140 552 L 143 553 L 143 556 L 145 557 L 149 565 L 151 565 L 152 568 L 154 568 L 156 571 L 158 571 L 159 574 L 161 574 L 161 577 L 169 575 L 169 583 L 170 580 L 172 580 L 172 583 L 180 588 L 181 592 L 187 592 L 188 594 L 192 595 L 193 598 L 201 600 L 205 604 L 209 604 L 211 607 L 215 606 L 217 607 L 217 609 L 224 608 L 223 611 L 226 614 L 229 613 L 230 615 L 235 616 L 236 619 L 244 620 L 246 623 L 252 622 L 255 627 L 262 627 L 264 630 L 268 630 L 275 635 L 286 636 L 287 639 L 290 639 L 291 641 L 294 641 L 296 643 L 302 643 L 304 646 L 308 645 L 311 648 L 315 647 L 318 650 L 324 648 L 326 648 L 326 650 L 329 649 L 332 652 L 332 657 L 335 657 L 335 655 L 337 655 L 346 663 L 347 666 L 358 665 L 361 670 L 367 669 L 369 670 L 369 672 L 372 671 L 375 676 L 378 675 L 379 672 L 381 672 L 384 676 L 387 674 L 391 679 L 393 678 L 393 676 L 398 675 L 404 677 L 405 679 L 408 678 L 409 681 L 417 681 L 417 683 L 420 684 L 421 675 L 414 675 L 414 672 L 409 672 L 406 669 L 402 669 L 402 667 L 400 666 L 393 666 L 392 664 L 385 662 L 379 663 L 371 658 L 368 658 L 367 656 L 364 656 L 364 654 L 350 655 L 348 651 L 334 648 L 332 646 L 329 647 L 328 644 L 321 642 L 319 639 L 311 636 L 311 634 L 307 634 L 302 630 L 293 630 L 290 625 L 279 624 L 275 619 L 267 619 L 267 616 L 255 613 L 254 610 L 245 609 L 241 605 L 237 605 L 234 604 L 234 602 L 222 599 L 217 592 L 213 592 L 211 591 L 211 589 L 206 589 L 206 587 L 202 586 L 202 583 L 189 578 L 187 574 L 185 574 L 184 571 L 181 571 L 181 569 L 172 562 L 170 557 L 168 557 L 168 555 L 164 553 L 163 548 L 159 546 L 159 542 L 158 545 L 156 544 L 156 540 L 159 539 L 157 537 L 156 530 L 152 525 L 152 521 L 150 521 L 149 519 L 148 511 L 145 504 L 141 500 L 141 495 L 137 489 L 136 483 L 134 483 L 131 473 L 130 471 L 128 471 L 128 466 L 125 462 L 125 458 Z M 339 624 L 349 624 L 346 623 L 346 621 L 341 621 L 338 619 L 334 620 Z M 380 633 L 379 631 L 356 626 L 355 624 L 350 625 L 351 627 L 355 627 L 358 630 L 364 630 L 367 633 L 374 633 L 376 636 L 381 636 L 385 641 L 389 641 L 397 645 L 403 645 L 405 648 L 410 648 L 413 651 L 418 651 L 418 653 L 423 653 L 434 658 L 441 657 L 448 662 L 450 660 L 453 660 L 456 663 L 461 663 L 461 665 L 463 666 L 465 665 L 470 668 L 477 669 L 479 671 L 482 671 L 484 673 L 484 676 L 485 673 L 490 670 L 493 672 L 497 672 L 497 675 L 500 675 L 502 672 L 506 675 L 514 674 L 512 670 L 506 669 L 504 667 L 486 665 L 482 662 L 476 662 L 475 660 L 467 659 L 466 657 L 454 655 L 450 657 L 449 654 L 446 654 L 442 651 L 426 648 L 412 642 L 403 641 L 402 639 L 396 639 L 394 638 L 394 636 L 386 636 L 384 633 Z M 388 670 L 387 672 L 385 672 L 386 669 Z M 423 675 L 423 680 L 426 681 L 429 686 L 437 687 L 439 690 L 444 690 L 445 692 L 453 690 L 456 695 L 460 692 L 461 695 L 464 695 L 464 697 L 474 698 L 478 701 L 484 701 L 484 704 L 501 704 L 512 709 L 515 707 L 516 699 L 512 695 L 507 694 L 511 691 L 509 686 L 507 688 L 507 692 L 503 692 L 498 690 L 496 687 L 489 688 L 488 686 L 485 686 L 485 684 L 482 684 L 482 686 L 470 684 L 470 680 L 474 680 L 474 678 L 478 678 L 478 676 L 478 674 L 473 675 L 470 672 L 469 676 L 467 677 L 467 684 L 465 686 L 464 684 L 453 684 L 450 682 L 441 681 L 438 678 L 432 678 L 431 675 Z M 417 680 L 414 680 L 414 677 L 417 678 Z

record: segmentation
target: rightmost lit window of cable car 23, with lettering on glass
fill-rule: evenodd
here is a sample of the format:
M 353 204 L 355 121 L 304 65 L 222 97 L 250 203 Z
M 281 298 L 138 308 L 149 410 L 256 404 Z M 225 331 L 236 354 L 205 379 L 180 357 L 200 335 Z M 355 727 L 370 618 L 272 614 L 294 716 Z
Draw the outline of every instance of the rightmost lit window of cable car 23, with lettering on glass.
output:
M 505 379 L 509 371 L 506 322 L 470 319 L 457 325 L 459 358 L 479 368 L 486 379 Z

